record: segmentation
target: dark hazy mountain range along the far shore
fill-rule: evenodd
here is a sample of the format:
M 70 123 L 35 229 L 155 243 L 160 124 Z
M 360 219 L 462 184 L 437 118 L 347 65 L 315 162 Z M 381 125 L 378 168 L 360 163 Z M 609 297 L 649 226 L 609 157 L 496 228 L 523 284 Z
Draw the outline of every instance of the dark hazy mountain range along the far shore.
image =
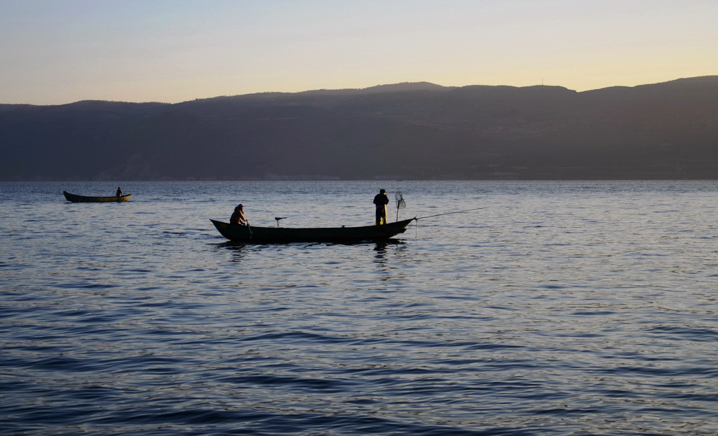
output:
M 718 76 L 0 105 L 0 180 L 718 179 Z

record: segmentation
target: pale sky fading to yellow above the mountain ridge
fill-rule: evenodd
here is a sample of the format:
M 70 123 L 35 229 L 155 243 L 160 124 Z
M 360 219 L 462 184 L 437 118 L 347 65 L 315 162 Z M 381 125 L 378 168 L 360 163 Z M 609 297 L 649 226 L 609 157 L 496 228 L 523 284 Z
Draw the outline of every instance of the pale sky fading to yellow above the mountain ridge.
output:
M 0 0 L 0 103 L 701 75 L 716 0 Z

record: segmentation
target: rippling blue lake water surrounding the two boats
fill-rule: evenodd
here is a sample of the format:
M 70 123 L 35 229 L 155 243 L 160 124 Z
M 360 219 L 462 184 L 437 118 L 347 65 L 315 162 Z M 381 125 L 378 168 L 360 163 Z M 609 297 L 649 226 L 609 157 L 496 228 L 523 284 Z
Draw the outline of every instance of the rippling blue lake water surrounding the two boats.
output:
M 4 435 L 716 435 L 718 182 L 0 183 Z M 390 243 L 231 245 L 209 219 Z

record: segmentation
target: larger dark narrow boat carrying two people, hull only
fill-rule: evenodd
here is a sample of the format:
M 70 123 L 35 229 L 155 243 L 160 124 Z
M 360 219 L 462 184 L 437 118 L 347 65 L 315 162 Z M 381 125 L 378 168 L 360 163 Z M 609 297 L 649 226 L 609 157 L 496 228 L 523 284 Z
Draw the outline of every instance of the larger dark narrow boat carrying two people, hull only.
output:
M 253 227 L 210 220 L 222 236 L 233 242 L 288 243 L 288 242 L 361 242 L 380 241 L 404 233 L 411 218 L 381 226 L 363 227 Z

